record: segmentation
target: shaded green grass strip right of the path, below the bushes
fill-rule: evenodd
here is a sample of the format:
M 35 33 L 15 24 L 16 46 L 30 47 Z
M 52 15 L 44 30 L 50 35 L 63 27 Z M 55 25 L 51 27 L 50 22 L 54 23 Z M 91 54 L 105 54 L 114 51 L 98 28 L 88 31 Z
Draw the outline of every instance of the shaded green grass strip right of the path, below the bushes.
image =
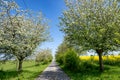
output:
M 120 66 L 104 65 L 104 72 L 99 72 L 98 65 L 92 69 L 84 69 L 77 72 L 70 71 L 62 65 L 61 68 L 71 80 L 120 80 Z

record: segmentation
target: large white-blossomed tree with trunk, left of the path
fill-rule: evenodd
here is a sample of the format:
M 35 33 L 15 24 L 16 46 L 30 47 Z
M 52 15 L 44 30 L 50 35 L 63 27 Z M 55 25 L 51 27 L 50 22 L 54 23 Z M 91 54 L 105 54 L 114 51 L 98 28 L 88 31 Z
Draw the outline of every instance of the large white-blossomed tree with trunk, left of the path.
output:
M 48 25 L 41 13 L 29 15 L 11 0 L 1 3 L 0 52 L 13 54 L 18 60 L 17 70 L 21 71 L 23 60 L 48 39 Z

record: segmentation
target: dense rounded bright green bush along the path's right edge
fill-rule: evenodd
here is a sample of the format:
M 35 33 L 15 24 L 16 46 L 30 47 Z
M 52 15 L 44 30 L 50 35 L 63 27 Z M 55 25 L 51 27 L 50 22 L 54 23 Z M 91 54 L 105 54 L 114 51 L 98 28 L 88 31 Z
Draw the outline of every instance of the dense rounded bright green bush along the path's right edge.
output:
M 67 69 L 77 71 L 79 69 L 80 59 L 73 49 L 68 49 L 64 56 L 64 66 Z

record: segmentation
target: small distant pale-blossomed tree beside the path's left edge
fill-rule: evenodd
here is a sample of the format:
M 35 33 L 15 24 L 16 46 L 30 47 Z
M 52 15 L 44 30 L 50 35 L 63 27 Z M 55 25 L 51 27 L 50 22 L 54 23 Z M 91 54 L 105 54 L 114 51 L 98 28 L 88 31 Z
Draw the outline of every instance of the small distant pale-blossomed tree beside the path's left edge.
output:
M 52 51 L 50 49 L 43 49 L 36 55 L 35 61 L 37 63 L 48 63 L 52 61 Z

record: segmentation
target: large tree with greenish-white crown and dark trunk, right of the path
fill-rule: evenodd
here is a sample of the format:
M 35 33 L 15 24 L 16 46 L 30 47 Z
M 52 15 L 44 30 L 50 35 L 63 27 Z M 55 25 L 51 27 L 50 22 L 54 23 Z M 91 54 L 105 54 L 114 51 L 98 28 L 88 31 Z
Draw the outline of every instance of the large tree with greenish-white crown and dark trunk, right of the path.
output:
M 68 9 L 60 17 L 67 41 L 83 49 L 93 49 L 99 56 L 120 47 L 120 8 L 116 0 L 66 0 Z

